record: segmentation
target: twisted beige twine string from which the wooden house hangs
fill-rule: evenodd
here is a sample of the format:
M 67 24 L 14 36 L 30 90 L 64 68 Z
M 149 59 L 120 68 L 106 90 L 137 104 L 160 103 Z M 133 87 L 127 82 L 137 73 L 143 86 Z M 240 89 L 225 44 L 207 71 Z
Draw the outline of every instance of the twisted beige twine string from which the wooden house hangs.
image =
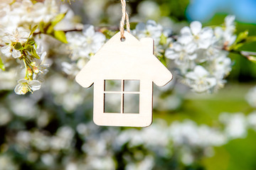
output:
M 125 20 L 126 20 L 126 24 L 127 24 L 127 32 L 129 33 L 130 32 L 130 28 L 129 28 L 129 16 L 128 16 L 128 13 L 126 11 L 126 1 L 125 0 L 121 0 L 121 4 L 122 4 L 122 18 L 121 18 L 121 21 L 120 21 L 120 26 L 119 26 L 119 30 L 120 30 L 120 33 L 121 33 L 121 39 L 124 38 L 124 23 L 125 23 Z

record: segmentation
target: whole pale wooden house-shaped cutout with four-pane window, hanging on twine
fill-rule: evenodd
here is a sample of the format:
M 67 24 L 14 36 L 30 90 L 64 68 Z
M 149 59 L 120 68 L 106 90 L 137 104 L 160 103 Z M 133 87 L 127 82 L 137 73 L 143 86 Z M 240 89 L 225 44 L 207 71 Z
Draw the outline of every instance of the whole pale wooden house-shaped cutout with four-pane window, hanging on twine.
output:
M 164 86 L 172 79 L 172 74 L 164 64 L 154 56 L 154 40 L 137 40 L 128 32 L 125 40 L 120 40 L 120 33 L 114 35 L 81 69 L 75 80 L 88 88 L 94 84 L 93 120 L 97 125 L 146 127 L 152 123 L 153 82 Z M 107 89 L 108 81 L 116 81 L 119 87 Z M 139 89 L 127 91 L 126 83 L 139 82 Z M 118 110 L 108 112 L 108 96 L 117 96 Z M 126 96 L 139 96 L 137 113 L 127 113 L 129 103 Z M 110 101 L 112 102 L 112 101 Z

